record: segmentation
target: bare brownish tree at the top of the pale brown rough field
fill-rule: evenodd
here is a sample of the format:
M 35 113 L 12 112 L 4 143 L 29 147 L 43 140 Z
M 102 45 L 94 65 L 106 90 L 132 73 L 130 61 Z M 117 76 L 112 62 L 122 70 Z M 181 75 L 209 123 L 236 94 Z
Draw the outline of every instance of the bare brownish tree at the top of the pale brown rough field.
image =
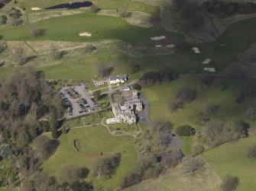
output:
M 186 173 L 195 173 L 196 171 L 205 170 L 206 163 L 202 158 L 190 158 L 184 164 Z

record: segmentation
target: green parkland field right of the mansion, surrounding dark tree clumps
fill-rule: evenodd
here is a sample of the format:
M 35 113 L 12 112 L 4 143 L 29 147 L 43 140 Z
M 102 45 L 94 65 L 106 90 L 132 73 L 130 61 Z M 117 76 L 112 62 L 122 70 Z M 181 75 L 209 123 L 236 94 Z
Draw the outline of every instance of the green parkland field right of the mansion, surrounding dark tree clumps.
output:
M 147 97 L 151 104 L 151 119 L 163 118 L 170 120 L 175 127 L 190 124 L 196 129 L 202 129 L 202 126 L 197 124 L 199 116 L 221 119 L 225 123 L 232 123 L 235 119 L 245 119 L 246 109 L 254 102 L 253 96 L 251 96 L 244 103 L 236 103 L 235 95 L 241 82 L 232 81 L 230 78 L 225 79 L 227 81 L 231 80 L 230 86 L 225 91 L 220 91 L 213 84 L 210 87 L 203 86 L 202 82 L 196 77 L 180 77 L 177 81 L 172 81 L 169 84 L 157 84 L 144 88 L 141 94 Z M 248 79 L 248 81 L 251 81 L 251 79 Z M 170 113 L 168 101 L 175 97 L 177 88 L 183 85 L 194 88 L 197 91 L 198 97 L 192 103 L 186 104 L 177 113 Z M 205 112 L 206 104 L 209 101 L 220 106 L 219 113 L 215 116 L 208 116 Z

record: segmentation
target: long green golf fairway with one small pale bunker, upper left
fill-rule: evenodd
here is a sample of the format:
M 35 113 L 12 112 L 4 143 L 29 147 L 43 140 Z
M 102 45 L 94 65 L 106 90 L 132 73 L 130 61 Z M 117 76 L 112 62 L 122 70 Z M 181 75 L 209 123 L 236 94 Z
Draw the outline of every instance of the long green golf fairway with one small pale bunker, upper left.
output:
M 70 42 L 92 42 L 105 39 L 119 39 L 136 44 L 150 37 L 165 35 L 178 36 L 160 27 L 143 28 L 128 24 L 122 18 L 83 13 L 49 18 L 35 23 L 45 30 L 42 37 L 30 37 L 28 25 L 0 30 L 3 40 L 63 40 Z M 89 31 L 92 37 L 79 37 L 79 33 Z M 131 32 L 132 31 L 132 32 Z

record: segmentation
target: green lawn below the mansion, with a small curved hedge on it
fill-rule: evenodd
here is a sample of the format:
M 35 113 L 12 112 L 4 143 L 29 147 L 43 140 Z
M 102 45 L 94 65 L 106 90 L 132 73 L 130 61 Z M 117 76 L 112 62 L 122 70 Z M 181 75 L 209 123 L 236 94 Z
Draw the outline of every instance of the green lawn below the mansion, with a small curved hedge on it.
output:
M 79 138 L 81 150 L 79 152 L 73 149 L 74 138 Z M 83 154 L 83 148 L 89 152 L 109 154 L 112 152 L 122 153 L 122 161 L 116 173 L 109 180 L 100 180 L 97 177 L 88 177 L 87 181 L 109 188 L 117 188 L 118 183 L 125 173 L 133 167 L 137 160 L 137 153 L 133 145 L 133 138 L 129 136 L 116 137 L 109 135 L 109 132 L 103 127 L 90 127 L 71 130 L 66 135 L 59 138 L 60 146 L 57 151 L 43 164 L 43 170 L 50 176 L 58 177 L 59 170 L 70 164 L 80 167 L 88 167 L 97 160 L 98 157 L 86 156 Z

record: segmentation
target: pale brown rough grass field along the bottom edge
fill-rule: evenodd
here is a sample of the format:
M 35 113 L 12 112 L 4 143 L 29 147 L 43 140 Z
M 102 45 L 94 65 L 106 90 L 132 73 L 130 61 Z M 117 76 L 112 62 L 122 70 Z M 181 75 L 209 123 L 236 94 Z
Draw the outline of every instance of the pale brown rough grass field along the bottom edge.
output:
M 180 164 L 157 179 L 144 180 L 124 191 L 219 191 L 220 183 L 220 178 L 208 165 L 202 172 L 188 174 L 184 173 L 183 164 Z

